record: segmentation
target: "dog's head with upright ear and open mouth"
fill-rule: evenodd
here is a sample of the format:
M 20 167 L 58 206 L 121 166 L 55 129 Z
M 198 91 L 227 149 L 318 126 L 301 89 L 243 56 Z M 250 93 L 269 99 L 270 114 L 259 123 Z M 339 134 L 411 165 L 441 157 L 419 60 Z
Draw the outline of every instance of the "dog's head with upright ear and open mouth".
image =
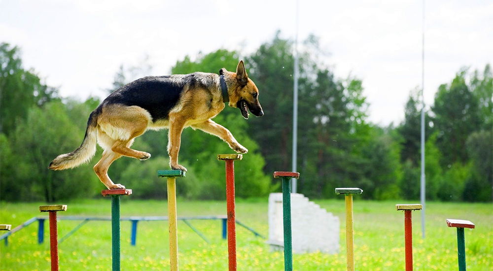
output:
M 228 72 L 222 68 L 220 74 L 227 74 L 229 77 L 228 89 L 231 89 L 228 91 L 229 106 L 240 108 L 242 116 L 246 119 L 248 119 L 248 110 L 257 117 L 264 115 L 262 106 L 258 102 L 257 86 L 248 78 L 243 60 L 238 63 L 236 72 Z

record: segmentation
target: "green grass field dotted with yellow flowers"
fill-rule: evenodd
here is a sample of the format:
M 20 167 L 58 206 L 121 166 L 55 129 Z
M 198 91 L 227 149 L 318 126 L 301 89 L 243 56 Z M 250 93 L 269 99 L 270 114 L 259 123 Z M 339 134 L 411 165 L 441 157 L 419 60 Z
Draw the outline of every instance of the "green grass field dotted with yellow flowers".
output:
M 341 251 L 338 254 L 310 253 L 294 255 L 294 270 L 346 270 L 345 212 L 343 200 L 316 201 L 341 220 Z M 354 247 L 356 270 L 404 270 L 404 214 L 395 210 L 396 202 L 354 200 Z M 397 203 L 410 203 L 399 201 Z M 61 204 L 61 203 L 59 203 Z M 77 201 L 68 204 L 60 215 L 110 215 L 110 199 Z M 41 215 L 42 203 L 0 203 L 0 223 L 16 227 Z M 237 202 L 237 219 L 268 236 L 267 199 Z M 178 216 L 221 215 L 225 202 L 189 202 L 178 200 Z M 421 238 L 421 213 L 414 212 L 414 267 L 416 271 L 458 270 L 456 230 L 445 219 L 471 220 L 476 229 L 466 230 L 466 261 L 470 271 L 493 270 L 492 203 L 427 203 L 426 239 Z M 167 215 L 166 202 L 122 199 L 121 215 Z M 293 219 L 296 219 L 293 217 Z M 80 221 L 61 221 L 59 237 Z M 221 221 L 192 221 L 211 240 L 207 244 L 183 222 L 178 222 L 179 267 L 190 271 L 227 270 L 227 242 L 221 239 Z M 123 221 L 122 270 L 169 270 L 168 223 L 140 222 L 137 245 L 130 245 L 130 222 Z M 9 237 L 9 245 L 0 244 L 0 270 L 49 270 L 48 223 L 45 242 L 37 244 L 37 223 Z M 281 271 L 282 252 L 270 252 L 265 240 L 237 226 L 238 270 Z M 111 223 L 85 224 L 59 246 L 61 270 L 110 270 Z

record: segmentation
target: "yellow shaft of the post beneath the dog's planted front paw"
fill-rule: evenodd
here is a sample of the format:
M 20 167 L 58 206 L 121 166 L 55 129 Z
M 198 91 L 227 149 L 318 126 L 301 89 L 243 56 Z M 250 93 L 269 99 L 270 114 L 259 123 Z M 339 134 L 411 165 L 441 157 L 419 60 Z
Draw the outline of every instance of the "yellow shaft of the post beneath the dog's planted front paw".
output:
M 168 178 L 168 221 L 170 222 L 170 270 L 178 271 L 178 234 L 176 230 L 176 178 Z

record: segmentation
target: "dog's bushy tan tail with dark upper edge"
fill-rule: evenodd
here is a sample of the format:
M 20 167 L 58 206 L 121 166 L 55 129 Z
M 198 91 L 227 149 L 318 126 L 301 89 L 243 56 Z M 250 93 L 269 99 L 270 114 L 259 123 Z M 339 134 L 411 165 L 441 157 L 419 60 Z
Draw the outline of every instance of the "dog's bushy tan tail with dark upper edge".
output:
M 48 169 L 53 170 L 63 170 L 72 169 L 80 164 L 87 163 L 96 153 L 96 144 L 98 139 L 98 108 L 94 110 L 91 115 L 89 115 L 89 120 L 87 121 L 86 134 L 84 135 L 84 140 L 82 144 L 72 151 L 71 153 L 60 154 L 57 158 L 51 161 Z

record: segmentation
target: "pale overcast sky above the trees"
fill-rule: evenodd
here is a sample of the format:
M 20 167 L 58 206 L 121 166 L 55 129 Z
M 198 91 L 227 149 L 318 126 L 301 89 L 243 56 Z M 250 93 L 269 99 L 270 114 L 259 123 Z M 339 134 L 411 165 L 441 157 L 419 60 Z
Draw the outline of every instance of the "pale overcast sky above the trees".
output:
M 153 75 L 164 75 L 185 55 L 218 48 L 248 54 L 277 30 L 294 38 L 295 6 L 295 0 L 0 0 L 0 42 L 21 47 L 24 67 L 59 86 L 62 96 L 104 98 L 119 66 L 137 65 L 145 55 Z M 422 7 L 422 0 L 302 0 L 299 39 L 319 36 L 334 73 L 363 80 L 370 121 L 399 123 L 409 91 L 422 81 Z M 425 9 L 430 105 L 459 68 L 492 64 L 493 1 L 428 0 Z

